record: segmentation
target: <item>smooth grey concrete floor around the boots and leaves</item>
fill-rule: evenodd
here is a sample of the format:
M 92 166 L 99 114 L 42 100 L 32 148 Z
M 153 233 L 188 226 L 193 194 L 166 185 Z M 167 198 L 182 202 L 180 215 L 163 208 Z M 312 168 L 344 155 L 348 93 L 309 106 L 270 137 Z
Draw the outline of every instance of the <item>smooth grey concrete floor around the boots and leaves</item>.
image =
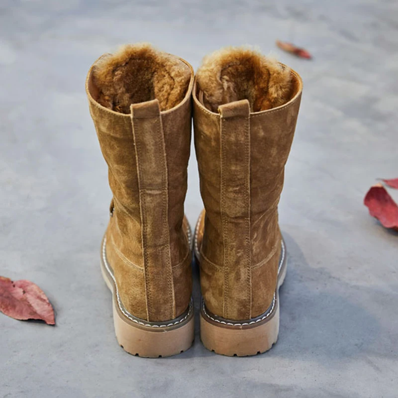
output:
M 375 178 L 398 177 L 397 20 L 387 0 L 2 0 L 0 275 L 37 283 L 57 326 L 0 315 L 0 397 L 397 397 L 398 233 L 363 205 Z M 250 43 L 303 78 L 280 204 L 281 330 L 266 354 L 218 356 L 198 333 L 171 359 L 116 343 L 99 268 L 110 191 L 84 81 L 100 54 L 136 41 L 194 68 Z M 201 207 L 193 153 L 192 224 Z

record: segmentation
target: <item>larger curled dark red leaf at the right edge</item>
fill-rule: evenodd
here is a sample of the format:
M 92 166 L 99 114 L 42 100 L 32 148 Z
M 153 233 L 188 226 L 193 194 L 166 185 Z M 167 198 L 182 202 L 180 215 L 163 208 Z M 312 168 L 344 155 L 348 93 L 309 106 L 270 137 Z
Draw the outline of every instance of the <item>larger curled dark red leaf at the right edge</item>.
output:
M 381 185 L 374 185 L 366 194 L 364 204 L 369 213 L 376 217 L 386 228 L 398 230 L 398 206 L 387 190 Z

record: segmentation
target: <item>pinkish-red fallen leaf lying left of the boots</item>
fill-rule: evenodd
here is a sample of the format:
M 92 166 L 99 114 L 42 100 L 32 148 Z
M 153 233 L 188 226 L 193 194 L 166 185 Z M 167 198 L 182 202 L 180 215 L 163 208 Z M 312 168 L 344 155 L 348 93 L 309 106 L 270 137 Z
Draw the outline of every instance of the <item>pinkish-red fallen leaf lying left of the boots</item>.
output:
M 0 277 L 0 311 L 14 319 L 41 319 L 55 325 L 54 310 L 44 292 L 26 280 Z

